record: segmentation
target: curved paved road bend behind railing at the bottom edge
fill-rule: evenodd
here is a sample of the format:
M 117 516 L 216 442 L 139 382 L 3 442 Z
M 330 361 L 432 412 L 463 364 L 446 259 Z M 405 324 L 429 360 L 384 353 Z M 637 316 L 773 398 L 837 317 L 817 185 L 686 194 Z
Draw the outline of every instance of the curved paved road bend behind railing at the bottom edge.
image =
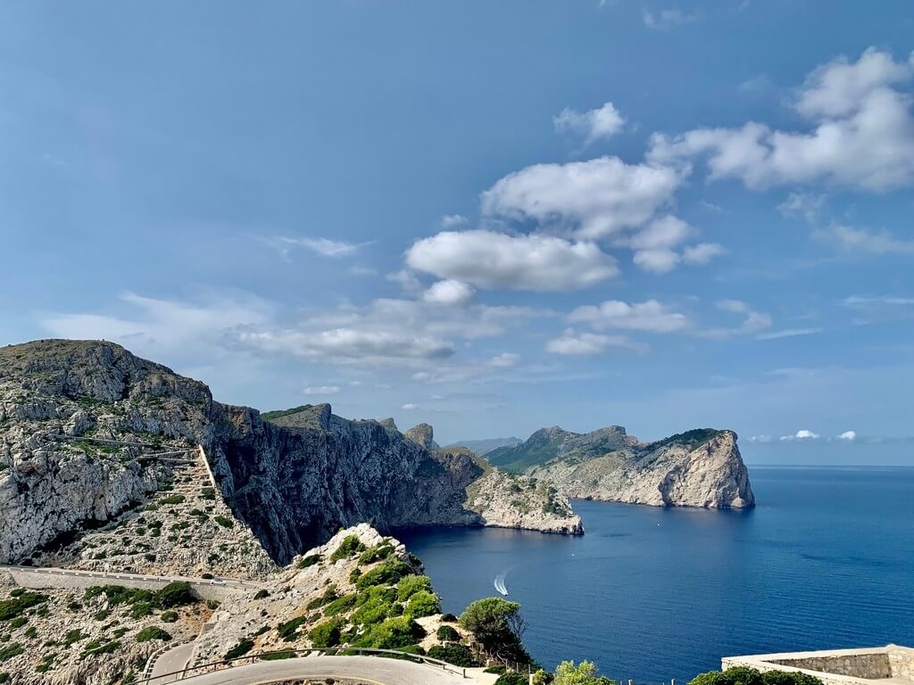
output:
M 469 675 L 469 673 L 468 673 Z M 181 680 L 182 685 L 259 685 L 276 680 L 347 678 L 372 685 L 473 685 L 461 674 L 428 664 L 378 657 L 309 657 L 260 661 Z M 155 682 L 155 681 L 153 681 Z

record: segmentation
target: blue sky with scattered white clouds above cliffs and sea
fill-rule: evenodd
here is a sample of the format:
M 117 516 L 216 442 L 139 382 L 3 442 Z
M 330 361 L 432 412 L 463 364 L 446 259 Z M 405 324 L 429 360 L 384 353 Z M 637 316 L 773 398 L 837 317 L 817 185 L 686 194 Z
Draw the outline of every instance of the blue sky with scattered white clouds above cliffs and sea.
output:
M 442 442 L 914 464 L 914 11 L 0 7 L 0 343 Z

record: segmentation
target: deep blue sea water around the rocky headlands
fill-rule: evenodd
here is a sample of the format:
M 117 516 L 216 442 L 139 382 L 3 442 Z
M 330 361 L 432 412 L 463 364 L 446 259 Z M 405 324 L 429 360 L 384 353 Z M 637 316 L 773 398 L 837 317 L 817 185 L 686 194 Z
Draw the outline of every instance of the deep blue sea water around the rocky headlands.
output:
M 685 683 L 720 657 L 914 646 L 914 469 L 750 468 L 754 511 L 575 502 L 579 538 L 498 529 L 398 532 L 445 611 L 520 602 L 549 668 L 590 659 Z

